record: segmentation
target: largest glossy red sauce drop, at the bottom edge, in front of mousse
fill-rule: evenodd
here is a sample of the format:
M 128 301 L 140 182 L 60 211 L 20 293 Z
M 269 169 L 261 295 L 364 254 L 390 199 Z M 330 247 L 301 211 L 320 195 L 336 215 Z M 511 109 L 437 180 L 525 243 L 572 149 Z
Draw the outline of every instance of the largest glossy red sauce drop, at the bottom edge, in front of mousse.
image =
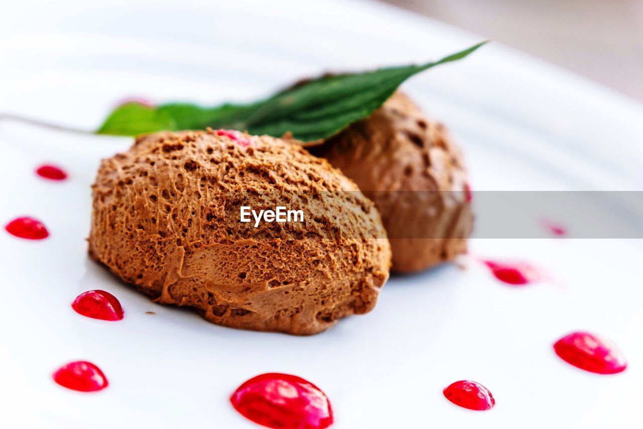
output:
M 271 372 L 243 383 L 230 402 L 247 419 L 268 428 L 320 429 L 333 422 L 331 403 L 311 382 Z

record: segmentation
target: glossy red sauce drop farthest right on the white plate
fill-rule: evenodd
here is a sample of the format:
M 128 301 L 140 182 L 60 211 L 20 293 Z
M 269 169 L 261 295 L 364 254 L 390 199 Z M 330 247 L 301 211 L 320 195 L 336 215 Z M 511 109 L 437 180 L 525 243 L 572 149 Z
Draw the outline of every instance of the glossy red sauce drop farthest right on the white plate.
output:
M 596 374 L 617 374 L 628 367 L 610 340 L 586 332 L 564 336 L 554 344 L 554 351 L 567 363 Z

